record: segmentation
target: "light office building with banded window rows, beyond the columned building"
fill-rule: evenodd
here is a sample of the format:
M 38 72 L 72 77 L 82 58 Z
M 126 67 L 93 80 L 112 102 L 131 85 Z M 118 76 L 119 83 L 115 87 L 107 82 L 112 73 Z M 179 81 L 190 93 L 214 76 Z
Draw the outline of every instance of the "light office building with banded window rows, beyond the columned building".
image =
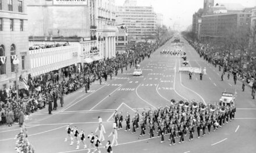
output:
M 117 6 L 116 16 L 126 24 L 131 41 L 152 39 L 155 34 L 157 14 L 152 6 L 137 6 L 136 1 L 126 0 L 123 6 Z

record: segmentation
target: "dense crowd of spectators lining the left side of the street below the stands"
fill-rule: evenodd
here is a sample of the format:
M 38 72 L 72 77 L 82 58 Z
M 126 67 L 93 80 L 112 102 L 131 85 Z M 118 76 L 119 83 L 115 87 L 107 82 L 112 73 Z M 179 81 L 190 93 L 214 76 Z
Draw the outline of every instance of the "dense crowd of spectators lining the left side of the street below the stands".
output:
M 104 77 L 106 81 L 107 76 L 112 75 L 114 71 L 117 75 L 118 70 L 123 71 L 124 67 L 127 70 L 127 65 L 130 64 L 131 68 L 145 57 L 150 58 L 150 54 L 165 42 L 161 44 L 139 43 L 137 45 L 140 46 L 140 50 L 135 48 L 135 50 L 129 50 L 123 54 L 117 53 L 116 57 L 112 59 L 86 64 L 80 71 L 75 67 L 69 67 L 63 68 L 60 74 L 52 71 L 34 78 L 29 75 L 29 79 L 26 81 L 29 89 L 19 90 L 19 100 L 16 99 L 14 87 L 0 89 L 0 125 L 12 126 L 13 122 L 23 123 L 24 115 L 30 115 L 38 109 L 43 109 L 49 103 L 53 103 L 52 110 L 56 110 L 57 100 L 59 99 L 63 106 L 63 96 L 66 94 L 76 92 L 87 85 L 90 90 L 90 85 L 95 80 Z M 20 77 L 20 80 L 22 79 Z

